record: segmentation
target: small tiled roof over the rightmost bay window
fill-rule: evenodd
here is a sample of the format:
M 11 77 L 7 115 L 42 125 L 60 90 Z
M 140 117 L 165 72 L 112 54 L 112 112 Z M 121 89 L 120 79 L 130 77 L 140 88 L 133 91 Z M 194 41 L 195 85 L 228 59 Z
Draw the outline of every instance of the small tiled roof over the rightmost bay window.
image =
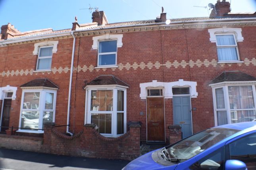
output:
M 256 81 L 256 78 L 240 71 L 224 71 L 219 76 L 215 77 L 209 84 L 224 81 Z

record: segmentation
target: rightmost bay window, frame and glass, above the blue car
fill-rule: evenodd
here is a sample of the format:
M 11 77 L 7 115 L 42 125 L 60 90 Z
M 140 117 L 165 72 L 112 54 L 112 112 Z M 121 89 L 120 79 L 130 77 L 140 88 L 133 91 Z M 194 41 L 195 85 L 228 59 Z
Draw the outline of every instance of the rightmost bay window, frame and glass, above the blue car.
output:
M 256 121 L 255 85 L 231 84 L 213 88 L 216 125 Z

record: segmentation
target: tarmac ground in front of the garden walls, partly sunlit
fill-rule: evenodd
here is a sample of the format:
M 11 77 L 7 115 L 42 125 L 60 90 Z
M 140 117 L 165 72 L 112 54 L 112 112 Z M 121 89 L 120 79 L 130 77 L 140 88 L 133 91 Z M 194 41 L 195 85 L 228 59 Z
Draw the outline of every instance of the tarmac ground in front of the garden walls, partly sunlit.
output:
M 129 162 L 0 148 L 0 170 L 121 170 Z

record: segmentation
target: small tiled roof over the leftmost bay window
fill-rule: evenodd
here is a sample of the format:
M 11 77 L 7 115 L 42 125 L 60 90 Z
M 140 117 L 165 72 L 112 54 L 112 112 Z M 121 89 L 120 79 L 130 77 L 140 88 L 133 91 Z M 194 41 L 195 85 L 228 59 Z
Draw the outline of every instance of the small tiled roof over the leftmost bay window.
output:
M 50 87 L 59 89 L 59 87 L 55 83 L 46 78 L 34 79 L 32 81 L 29 81 L 28 83 L 21 85 L 20 87 Z

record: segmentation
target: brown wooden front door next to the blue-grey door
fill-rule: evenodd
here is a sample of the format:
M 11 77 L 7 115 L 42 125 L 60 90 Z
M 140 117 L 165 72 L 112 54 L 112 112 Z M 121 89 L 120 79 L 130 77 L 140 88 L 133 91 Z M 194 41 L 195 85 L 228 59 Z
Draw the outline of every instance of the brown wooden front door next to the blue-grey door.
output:
M 164 98 L 147 98 L 148 142 L 165 142 Z

